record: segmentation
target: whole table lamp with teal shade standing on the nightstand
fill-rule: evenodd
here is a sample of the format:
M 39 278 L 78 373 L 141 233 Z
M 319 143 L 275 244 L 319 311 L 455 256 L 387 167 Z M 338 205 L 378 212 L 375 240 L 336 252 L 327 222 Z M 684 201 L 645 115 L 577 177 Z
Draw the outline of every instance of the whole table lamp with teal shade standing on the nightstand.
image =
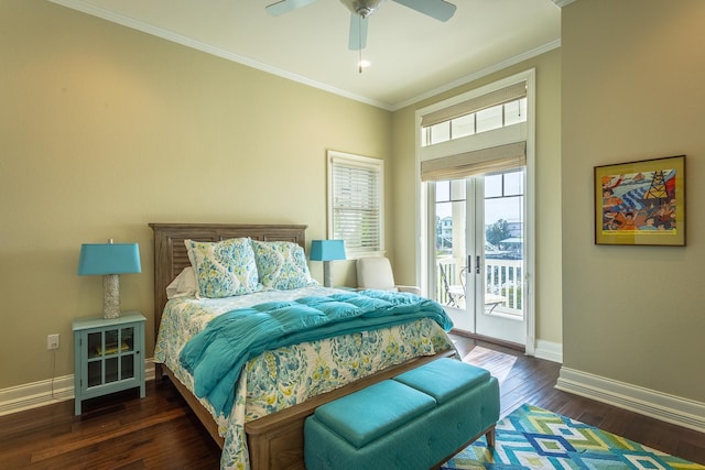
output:
M 84 243 L 78 259 L 78 275 L 102 275 L 102 316 L 120 316 L 119 274 L 142 272 L 137 243 Z

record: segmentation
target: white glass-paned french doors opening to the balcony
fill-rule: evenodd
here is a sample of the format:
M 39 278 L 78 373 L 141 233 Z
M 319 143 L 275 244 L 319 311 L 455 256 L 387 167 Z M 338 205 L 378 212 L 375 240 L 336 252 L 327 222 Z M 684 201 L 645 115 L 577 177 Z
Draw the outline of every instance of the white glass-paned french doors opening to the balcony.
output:
M 436 181 L 432 291 L 455 328 L 525 346 L 523 167 Z

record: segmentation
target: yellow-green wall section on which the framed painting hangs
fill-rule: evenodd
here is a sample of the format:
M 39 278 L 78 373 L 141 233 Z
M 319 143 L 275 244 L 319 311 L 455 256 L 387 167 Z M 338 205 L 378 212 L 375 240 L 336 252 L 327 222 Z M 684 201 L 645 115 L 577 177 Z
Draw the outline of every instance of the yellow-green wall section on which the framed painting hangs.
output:
M 705 402 L 705 2 L 563 9 L 564 365 Z M 687 247 L 593 242 L 593 168 L 686 155 Z

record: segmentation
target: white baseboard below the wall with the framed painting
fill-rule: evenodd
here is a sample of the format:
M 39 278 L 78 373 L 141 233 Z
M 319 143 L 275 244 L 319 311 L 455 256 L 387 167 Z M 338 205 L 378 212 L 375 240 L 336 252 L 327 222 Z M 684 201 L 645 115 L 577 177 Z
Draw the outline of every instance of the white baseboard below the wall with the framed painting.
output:
M 705 403 L 561 368 L 556 389 L 705 433 Z

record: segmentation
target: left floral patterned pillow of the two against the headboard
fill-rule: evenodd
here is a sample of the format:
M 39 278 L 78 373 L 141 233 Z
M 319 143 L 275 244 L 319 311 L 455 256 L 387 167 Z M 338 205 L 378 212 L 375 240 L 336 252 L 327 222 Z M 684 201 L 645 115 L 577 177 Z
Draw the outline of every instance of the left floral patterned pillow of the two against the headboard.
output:
M 259 291 L 249 238 L 218 242 L 184 240 L 200 297 L 219 298 Z

